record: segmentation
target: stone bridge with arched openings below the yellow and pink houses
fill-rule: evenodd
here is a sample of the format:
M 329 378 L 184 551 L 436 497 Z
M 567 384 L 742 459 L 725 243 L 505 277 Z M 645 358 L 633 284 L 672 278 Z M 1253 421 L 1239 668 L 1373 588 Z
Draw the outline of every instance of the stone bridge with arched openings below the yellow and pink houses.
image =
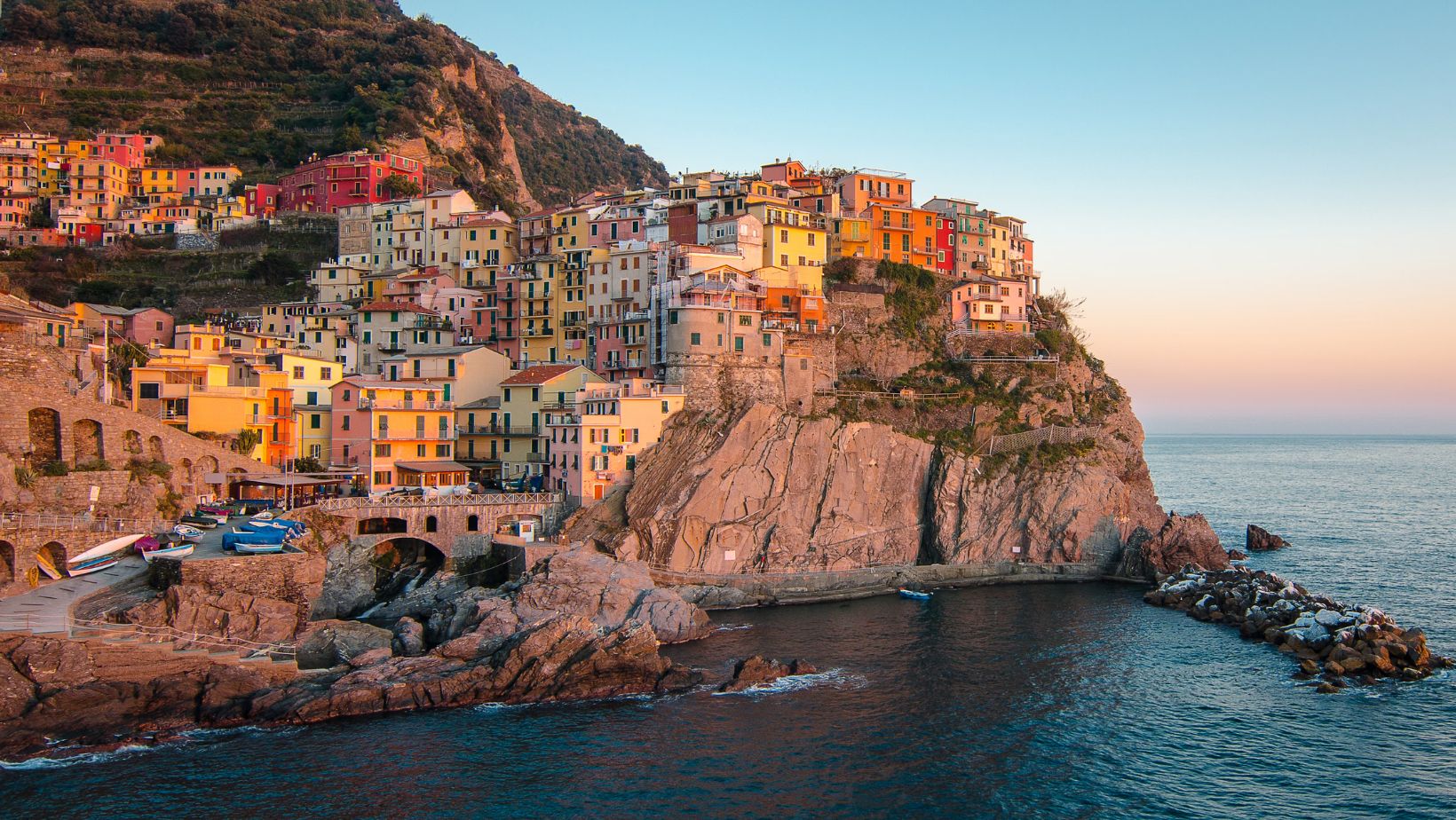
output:
M 565 519 L 565 498 L 558 492 L 329 498 L 317 508 L 348 519 L 355 545 L 422 540 L 456 565 L 488 555 L 492 537 L 517 521 L 534 523 L 536 537 L 545 537 Z

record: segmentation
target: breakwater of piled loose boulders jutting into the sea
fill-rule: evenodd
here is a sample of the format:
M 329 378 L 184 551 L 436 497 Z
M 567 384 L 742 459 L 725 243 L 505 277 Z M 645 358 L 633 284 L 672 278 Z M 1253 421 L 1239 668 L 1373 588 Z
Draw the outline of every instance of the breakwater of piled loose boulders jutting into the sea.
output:
M 1452 658 L 1425 645 L 1418 628 L 1402 628 L 1370 606 L 1345 606 L 1274 572 L 1233 567 L 1216 572 L 1185 567 L 1143 600 L 1187 612 L 1190 618 L 1238 626 L 1245 638 L 1262 639 L 1299 661 L 1296 676 L 1319 679 L 1321 692 L 1347 679 L 1418 680 Z

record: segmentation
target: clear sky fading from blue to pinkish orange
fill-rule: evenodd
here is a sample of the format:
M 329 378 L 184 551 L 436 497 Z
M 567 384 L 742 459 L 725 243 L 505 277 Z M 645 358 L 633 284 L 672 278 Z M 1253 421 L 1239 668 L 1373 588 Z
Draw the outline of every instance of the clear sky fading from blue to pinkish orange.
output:
M 1456 433 L 1456 3 L 402 6 L 671 172 L 1025 218 L 1150 433 Z

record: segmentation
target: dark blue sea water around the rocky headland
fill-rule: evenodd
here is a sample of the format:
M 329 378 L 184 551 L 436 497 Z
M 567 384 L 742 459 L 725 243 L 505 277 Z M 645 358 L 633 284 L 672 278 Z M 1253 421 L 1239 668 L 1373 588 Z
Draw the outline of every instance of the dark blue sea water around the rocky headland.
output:
M 1165 505 L 1456 653 L 1456 438 L 1155 437 Z M 25 817 L 1453 817 L 1456 683 L 1318 696 L 1115 584 L 718 613 L 674 647 L 830 670 L 756 695 L 475 708 L 0 770 Z

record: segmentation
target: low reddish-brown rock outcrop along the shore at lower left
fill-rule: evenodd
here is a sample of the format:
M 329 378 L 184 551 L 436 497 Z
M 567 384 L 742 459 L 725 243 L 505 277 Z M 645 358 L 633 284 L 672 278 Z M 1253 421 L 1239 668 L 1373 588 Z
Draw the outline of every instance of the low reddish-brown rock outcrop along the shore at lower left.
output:
M 159 625 L 250 625 L 272 635 L 284 622 L 248 596 L 173 587 L 132 610 Z M 237 612 L 226 610 L 236 606 Z M 192 727 L 313 722 L 342 715 L 677 692 L 702 676 L 658 654 L 661 641 L 711 632 L 708 616 L 652 586 L 641 564 L 591 552 L 539 562 L 502 590 L 467 590 L 430 629 L 411 619 L 381 629 L 316 622 L 297 636 L 293 664 L 178 654 L 151 644 L 33 636 L 0 638 L 0 754 L 111 744 Z M 221 613 L 221 620 L 214 615 Z M 237 629 L 234 629 L 234 634 Z M 397 648 L 397 653 L 396 653 Z M 57 746 L 54 741 L 60 741 Z

